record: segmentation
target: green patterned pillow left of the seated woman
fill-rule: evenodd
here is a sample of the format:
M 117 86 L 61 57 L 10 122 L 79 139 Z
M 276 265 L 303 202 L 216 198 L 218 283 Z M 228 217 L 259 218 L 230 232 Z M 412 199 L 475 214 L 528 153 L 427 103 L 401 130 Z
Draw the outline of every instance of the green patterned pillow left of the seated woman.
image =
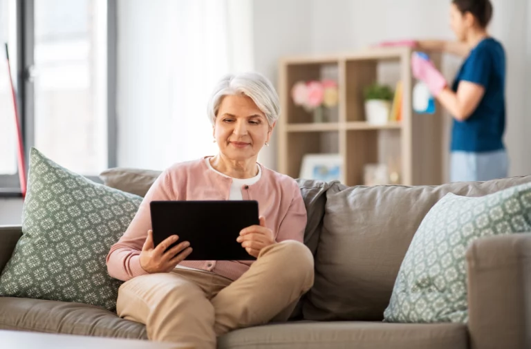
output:
M 105 187 L 30 154 L 22 232 L 0 276 L 0 296 L 116 307 L 121 281 L 105 258 L 142 198 Z

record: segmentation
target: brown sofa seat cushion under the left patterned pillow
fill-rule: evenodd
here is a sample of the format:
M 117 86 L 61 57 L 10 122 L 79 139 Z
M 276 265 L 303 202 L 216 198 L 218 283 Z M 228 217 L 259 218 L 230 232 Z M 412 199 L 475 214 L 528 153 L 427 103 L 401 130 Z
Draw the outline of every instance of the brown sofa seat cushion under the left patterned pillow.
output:
M 0 329 L 147 339 L 144 325 L 93 305 L 0 297 Z

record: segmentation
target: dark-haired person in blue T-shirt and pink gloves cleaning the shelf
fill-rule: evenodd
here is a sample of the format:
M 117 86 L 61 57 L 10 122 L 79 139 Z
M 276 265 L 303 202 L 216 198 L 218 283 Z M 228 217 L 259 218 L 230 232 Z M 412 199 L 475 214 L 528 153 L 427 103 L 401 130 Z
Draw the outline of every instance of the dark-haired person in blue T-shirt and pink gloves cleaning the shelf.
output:
M 434 64 L 413 53 L 413 75 L 428 86 L 454 117 L 451 131 L 451 182 L 507 177 L 505 131 L 505 52 L 487 33 L 489 0 L 453 0 L 451 29 L 457 41 L 402 41 L 419 51 L 465 57 L 453 84 Z

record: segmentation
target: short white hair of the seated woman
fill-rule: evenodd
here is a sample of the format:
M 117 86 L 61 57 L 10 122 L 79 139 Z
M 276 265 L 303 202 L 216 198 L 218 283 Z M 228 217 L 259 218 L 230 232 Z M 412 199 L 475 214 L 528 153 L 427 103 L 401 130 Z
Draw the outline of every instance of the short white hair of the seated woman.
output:
M 280 115 L 279 95 L 277 91 L 274 91 L 271 82 L 259 73 L 241 73 L 225 75 L 216 84 L 207 107 L 210 122 L 213 125 L 216 122 L 219 104 L 223 97 L 242 94 L 250 97 L 254 104 L 257 104 L 268 119 L 270 126 L 277 121 Z

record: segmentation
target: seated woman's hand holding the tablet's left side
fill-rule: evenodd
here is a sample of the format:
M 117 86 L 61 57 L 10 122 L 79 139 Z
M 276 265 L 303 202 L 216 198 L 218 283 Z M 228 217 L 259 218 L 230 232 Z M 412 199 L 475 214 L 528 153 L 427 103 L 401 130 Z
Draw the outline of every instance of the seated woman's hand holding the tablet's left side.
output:
M 188 241 L 183 241 L 166 251 L 178 239 L 179 237 L 176 235 L 169 236 L 169 238 L 166 238 L 155 247 L 153 231 L 148 230 L 147 239 L 142 247 L 142 252 L 140 252 L 140 266 L 142 269 L 149 274 L 171 272 L 176 265 L 184 261 L 192 253 L 192 247 L 189 247 Z

